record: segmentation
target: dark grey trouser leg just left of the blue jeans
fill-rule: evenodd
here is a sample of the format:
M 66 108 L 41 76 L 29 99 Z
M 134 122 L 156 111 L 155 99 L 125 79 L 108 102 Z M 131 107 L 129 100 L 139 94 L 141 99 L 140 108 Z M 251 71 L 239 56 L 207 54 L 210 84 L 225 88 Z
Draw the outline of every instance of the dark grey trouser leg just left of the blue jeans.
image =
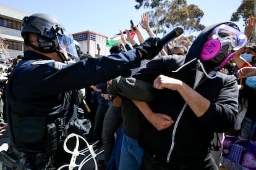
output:
M 119 129 L 121 124 L 122 124 L 121 107 L 114 107 L 113 102 L 109 102 L 109 107 L 104 118 L 103 131 L 102 131 L 105 164 L 108 164 L 108 161 L 111 158 L 111 153 L 114 148 L 114 142 L 115 142 L 114 134 L 117 131 L 117 129 Z

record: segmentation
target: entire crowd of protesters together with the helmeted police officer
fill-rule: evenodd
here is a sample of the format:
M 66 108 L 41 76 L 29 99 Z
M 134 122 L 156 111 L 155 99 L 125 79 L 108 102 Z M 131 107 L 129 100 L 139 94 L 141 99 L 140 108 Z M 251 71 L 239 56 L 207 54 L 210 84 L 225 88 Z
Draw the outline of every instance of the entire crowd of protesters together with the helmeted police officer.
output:
M 26 50 L 1 86 L 5 156 L 17 163 L 9 168 L 68 164 L 62 146 L 73 132 L 105 150 L 101 169 L 120 170 L 219 169 L 223 144 L 215 141 L 225 132 L 256 141 L 256 46 L 248 43 L 256 18 L 245 21 L 244 33 L 232 22 L 216 23 L 191 43 L 180 36 L 164 46 L 148 18 L 144 13 L 140 26 L 149 38 L 131 26 L 139 42 L 120 30 L 110 55 L 97 46 L 94 57 L 53 16 L 23 18 Z M 81 132 L 85 119 L 91 127 Z

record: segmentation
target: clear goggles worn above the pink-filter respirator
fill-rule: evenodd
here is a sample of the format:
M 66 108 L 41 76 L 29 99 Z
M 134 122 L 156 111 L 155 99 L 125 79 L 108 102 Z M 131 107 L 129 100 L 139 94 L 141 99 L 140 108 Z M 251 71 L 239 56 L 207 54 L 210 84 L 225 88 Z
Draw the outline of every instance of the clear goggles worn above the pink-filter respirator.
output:
M 226 24 L 217 26 L 213 30 L 213 39 L 217 38 L 221 41 L 231 41 L 231 46 L 233 46 L 233 48 L 241 48 L 245 46 L 247 42 L 247 36 L 245 36 L 244 33 Z

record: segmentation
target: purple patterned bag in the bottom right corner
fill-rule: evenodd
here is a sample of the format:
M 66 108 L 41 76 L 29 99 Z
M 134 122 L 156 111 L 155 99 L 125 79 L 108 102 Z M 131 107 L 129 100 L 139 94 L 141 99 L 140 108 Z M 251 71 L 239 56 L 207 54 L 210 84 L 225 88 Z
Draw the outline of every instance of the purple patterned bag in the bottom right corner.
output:
M 225 136 L 221 164 L 232 169 L 256 170 L 256 145 L 250 140 Z

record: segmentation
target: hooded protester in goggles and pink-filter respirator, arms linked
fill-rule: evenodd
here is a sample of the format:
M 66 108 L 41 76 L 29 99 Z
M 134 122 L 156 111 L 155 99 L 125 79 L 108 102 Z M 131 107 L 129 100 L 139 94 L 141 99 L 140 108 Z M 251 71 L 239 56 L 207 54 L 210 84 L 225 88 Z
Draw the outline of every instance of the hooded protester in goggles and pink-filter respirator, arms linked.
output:
M 209 145 L 214 132 L 234 127 L 238 88 L 234 75 L 217 70 L 235 55 L 230 50 L 246 42 L 234 23 L 216 23 L 198 35 L 186 57 L 163 56 L 133 78 L 113 80 L 113 88 L 129 99 L 148 100 L 147 94 L 154 94 L 151 102 L 134 101 L 147 118 L 139 139 L 142 170 L 218 169 Z M 137 88 L 137 79 L 153 83 L 155 89 Z

